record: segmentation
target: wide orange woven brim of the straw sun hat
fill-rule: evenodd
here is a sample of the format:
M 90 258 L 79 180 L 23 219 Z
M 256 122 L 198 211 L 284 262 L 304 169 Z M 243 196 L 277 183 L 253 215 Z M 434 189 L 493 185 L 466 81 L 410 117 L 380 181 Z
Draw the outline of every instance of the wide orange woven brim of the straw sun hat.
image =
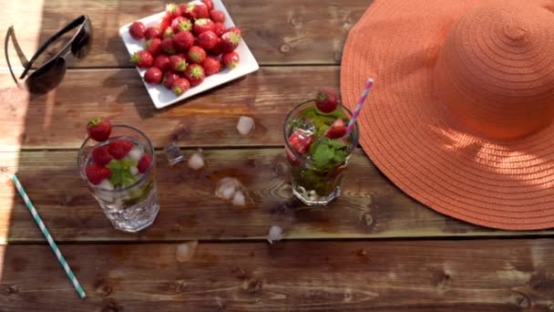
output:
M 554 227 L 554 126 L 519 140 L 483 139 L 458 130 L 436 95 L 433 68 L 447 31 L 483 3 L 376 0 L 344 46 L 344 105 L 354 109 L 365 80 L 375 79 L 360 143 L 416 201 L 487 227 Z

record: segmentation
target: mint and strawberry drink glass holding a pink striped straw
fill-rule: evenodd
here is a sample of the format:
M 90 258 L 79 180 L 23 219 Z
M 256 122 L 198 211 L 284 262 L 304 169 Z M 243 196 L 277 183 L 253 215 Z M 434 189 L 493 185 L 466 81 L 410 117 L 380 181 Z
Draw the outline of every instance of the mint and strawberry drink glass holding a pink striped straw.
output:
M 358 126 L 346 134 L 352 113 L 330 89 L 297 105 L 284 122 L 292 192 L 307 205 L 325 205 L 341 195 L 344 170 L 358 144 Z

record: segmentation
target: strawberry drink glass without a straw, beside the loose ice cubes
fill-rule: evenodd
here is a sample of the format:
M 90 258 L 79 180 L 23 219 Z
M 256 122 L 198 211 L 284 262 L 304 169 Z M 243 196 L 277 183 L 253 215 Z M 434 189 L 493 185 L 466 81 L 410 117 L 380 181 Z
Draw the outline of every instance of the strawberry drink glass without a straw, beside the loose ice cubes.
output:
M 156 161 L 149 139 L 133 127 L 112 127 L 107 119 L 90 120 L 87 130 L 77 165 L 109 221 L 130 233 L 154 223 L 159 203 Z

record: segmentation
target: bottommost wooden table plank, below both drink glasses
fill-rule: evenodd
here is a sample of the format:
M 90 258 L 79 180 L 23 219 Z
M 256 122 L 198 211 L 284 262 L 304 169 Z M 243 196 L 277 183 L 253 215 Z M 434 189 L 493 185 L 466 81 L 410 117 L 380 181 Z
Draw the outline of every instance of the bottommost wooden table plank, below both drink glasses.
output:
M 77 298 L 46 245 L 0 247 L 8 311 L 548 311 L 554 241 L 69 244 Z M 33 259 L 41 259 L 35 261 Z M 47 282 L 46 282 L 47 281 Z

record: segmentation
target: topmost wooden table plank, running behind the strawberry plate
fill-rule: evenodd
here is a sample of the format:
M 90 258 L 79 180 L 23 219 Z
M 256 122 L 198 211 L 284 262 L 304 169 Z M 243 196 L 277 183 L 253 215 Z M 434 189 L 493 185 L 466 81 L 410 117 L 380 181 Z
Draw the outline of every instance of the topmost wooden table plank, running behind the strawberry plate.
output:
M 236 25 L 261 64 L 338 64 L 348 30 L 371 0 L 225 0 Z M 120 26 L 163 11 L 167 1 L 133 0 L 12 1 L 0 12 L 0 29 L 15 27 L 26 57 L 79 14 L 91 17 L 94 45 L 77 67 L 129 67 L 128 52 L 118 35 Z M 26 18 L 21 18 L 26 16 Z M 4 42 L 4 33 L 2 34 Z M 10 46 L 11 47 L 11 46 Z M 316 48 L 315 48 L 316 47 Z M 13 65 L 19 65 L 10 48 Z M 4 57 L 0 67 L 5 67 Z

